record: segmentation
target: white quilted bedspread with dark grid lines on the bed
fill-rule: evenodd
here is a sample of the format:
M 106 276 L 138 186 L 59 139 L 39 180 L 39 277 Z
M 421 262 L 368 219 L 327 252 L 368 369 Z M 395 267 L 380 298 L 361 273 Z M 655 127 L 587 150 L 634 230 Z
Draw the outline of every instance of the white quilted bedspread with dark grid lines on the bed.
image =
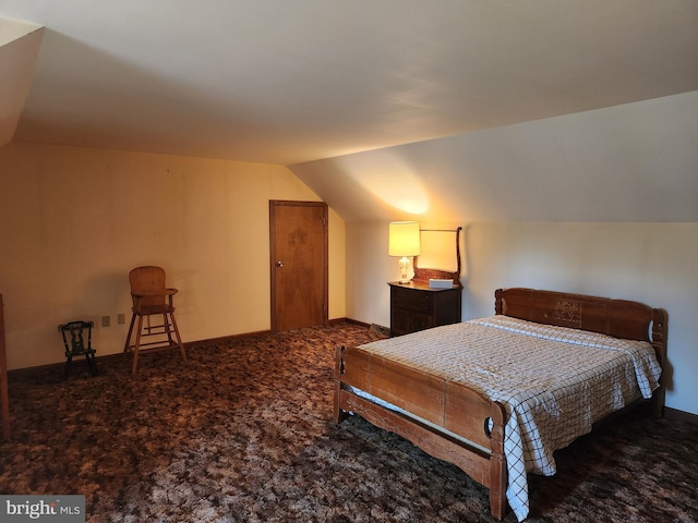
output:
M 659 386 L 661 367 L 643 341 L 492 316 L 361 345 L 464 384 L 507 411 L 507 501 L 529 511 L 527 473 L 553 475 L 553 452 L 594 422 Z

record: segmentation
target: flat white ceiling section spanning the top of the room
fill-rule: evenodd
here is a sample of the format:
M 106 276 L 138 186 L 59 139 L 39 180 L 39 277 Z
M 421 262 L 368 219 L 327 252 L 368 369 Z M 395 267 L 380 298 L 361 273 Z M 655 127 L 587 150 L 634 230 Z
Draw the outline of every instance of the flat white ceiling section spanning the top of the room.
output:
M 698 0 L 0 0 L 0 17 L 46 27 L 31 87 L 2 75 L 17 141 L 294 165 L 698 89 Z

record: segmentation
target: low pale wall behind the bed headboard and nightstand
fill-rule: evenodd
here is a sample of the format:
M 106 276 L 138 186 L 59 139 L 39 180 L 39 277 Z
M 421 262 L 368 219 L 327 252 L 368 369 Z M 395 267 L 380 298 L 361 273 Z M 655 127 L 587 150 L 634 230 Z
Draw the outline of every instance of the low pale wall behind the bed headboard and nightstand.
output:
M 636 300 L 666 308 L 666 404 L 698 414 L 698 223 L 457 224 L 465 226 L 464 319 L 494 314 L 500 287 Z M 387 223 L 348 223 L 347 256 L 347 315 L 388 326 L 386 282 L 396 279 L 398 268 L 387 255 Z

